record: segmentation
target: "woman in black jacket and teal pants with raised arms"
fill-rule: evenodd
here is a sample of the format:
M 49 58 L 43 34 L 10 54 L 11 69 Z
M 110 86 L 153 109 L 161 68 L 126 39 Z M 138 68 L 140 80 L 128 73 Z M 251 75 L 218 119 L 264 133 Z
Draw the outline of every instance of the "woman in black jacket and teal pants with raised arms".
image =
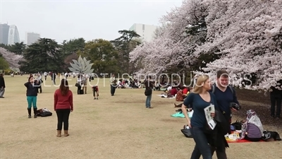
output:
M 39 82 L 35 82 L 33 76 L 28 78 L 28 82 L 24 84 L 27 88 L 27 112 L 28 118 L 31 118 L 31 107 L 33 107 L 33 112 L 35 113 L 35 118 L 37 118 L 37 91 L 39 88 Z

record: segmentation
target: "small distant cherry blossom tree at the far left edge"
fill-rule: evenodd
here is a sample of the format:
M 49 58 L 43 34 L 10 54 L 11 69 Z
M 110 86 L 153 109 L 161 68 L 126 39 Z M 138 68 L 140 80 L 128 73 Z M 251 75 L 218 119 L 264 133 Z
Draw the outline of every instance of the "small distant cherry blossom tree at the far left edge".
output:
M 13 52 L 8 52 L 8 50 L 4 49 L 3 47 L 0 47 L 0 54 L 8 61 L 8 64 L 13 69 L 18 69 L 19 64 L 18 62 L 23 59 L 23 55 L 18 55 Z

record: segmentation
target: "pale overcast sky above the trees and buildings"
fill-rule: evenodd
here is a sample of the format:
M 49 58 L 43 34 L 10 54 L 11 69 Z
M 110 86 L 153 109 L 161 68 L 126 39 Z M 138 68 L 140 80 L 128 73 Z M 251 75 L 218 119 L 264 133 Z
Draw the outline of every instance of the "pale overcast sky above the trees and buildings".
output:
M 0 23 L 16 25 L 20 40 L 27 32 L 59 43 L 79 37 L 114 40 L 121 36 L 118 30 L 134 23 L 160 25 L 161 16 L 181 4 L 182 0 L 0 0 Z

